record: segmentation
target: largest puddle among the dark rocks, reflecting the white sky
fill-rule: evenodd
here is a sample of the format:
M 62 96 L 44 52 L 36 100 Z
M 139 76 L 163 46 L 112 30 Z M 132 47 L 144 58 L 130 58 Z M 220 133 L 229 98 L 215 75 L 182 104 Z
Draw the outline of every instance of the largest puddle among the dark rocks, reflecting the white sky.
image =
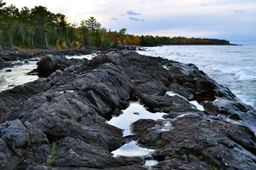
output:
M 130 124 L 132 124 L 132 122 L 136 122 L 137 120 L 143 118 L 152 120 L 163 119 L 163 115 L 165 115 L 163 112 L 148 112 L 148 110 L 146 110 L 144 106 L 138 102 L 130 103 L 130 106 L 126 108 L 126 110 L 122 110 L 122 112 L 123 114 L 118 117 L 113 117 L 110 121 L 108 121 L 108 123 L 120 129 L 124 129 L 124 137 L 131 135 Z

